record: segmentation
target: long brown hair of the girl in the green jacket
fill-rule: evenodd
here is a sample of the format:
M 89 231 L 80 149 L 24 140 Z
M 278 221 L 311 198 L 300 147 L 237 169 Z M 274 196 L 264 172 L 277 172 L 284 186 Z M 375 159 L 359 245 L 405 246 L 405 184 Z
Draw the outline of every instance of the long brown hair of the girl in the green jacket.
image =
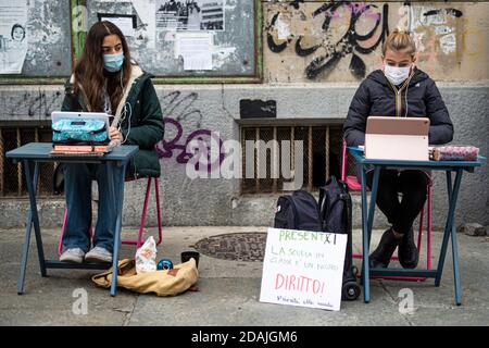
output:
M 105 36 L 113 34 L 121 39 L 125 59 L 121 71 L 116 74 L 106 74 L 103 70 L 102 44 Z M 97 22 L 88 32 L 84 52 L 75 66 L 76 83 L 74 92 L 75 95 L 80 92 L 80 85 L 85 102 L 89 105 L 89 109 L 91 111 L 102 111 L 106 82 L 112 110 L 115 112 L 115 108 L 117 108 L 123 97 L 123 86 L 126 86 L 129 80 L 130 70 L 130 53 L 124 34 L 111 22 Z

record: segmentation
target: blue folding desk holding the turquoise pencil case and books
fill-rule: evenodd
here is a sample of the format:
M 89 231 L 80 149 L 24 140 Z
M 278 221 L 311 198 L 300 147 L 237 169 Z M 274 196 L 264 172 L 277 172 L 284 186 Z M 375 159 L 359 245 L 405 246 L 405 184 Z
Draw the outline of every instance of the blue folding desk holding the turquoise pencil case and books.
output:
M 37 183 L 39 179 L 39 162 L 68 162 L 68 163 L 104 163 L 108 165 L 109 176 L 112 176 L 113 165 L 122 166 L 120 186 L 114 187 L 114 181 L 111 181 L 110 195 L 114 197 L 115 190 L 118 189 L 121 194 L 120 201 L 116 202 L 114 209 L 117 211 L 117 220 L 115 224 L 114 233 L 114 250 L 113 250 L 113 270 L 117 270 L 118 261 L 118 250 L 121 245 L 121 227 L 122 227 L 122 209 L 124 201 L 124 177 L 127 164 L 130 158 L 138 151 L 137 146 L 120 146 L 115 148 L 112 152 L 104 156 L 63 156 L 53 157 L 50 154 L 52 150 L 51 142 L 30 142 L 24 145 L 15 150 L 7 152 L 5 157 L 12 159 L 14 162 L 22 161 L 24 166 L 25 181 L 27 183 L 27 191 L 29 195 L 30 209 L 27 215 L 25 240 L 22 247 L 22 259 L 21 259 L 21 272 L 17 282 L 17 294 L 22 295 L 24 293 L 24 279 L 25 271 L 27 266 L 27 256 L 30 243 L 30 233 L 34 224 L 34 231 L 36 236 L 37 253 L 39 257 L 39 266 L 42 276 L 47 276 L 47 269 L 82 269 L 82 270 L 106 270 L 111 266 L 109 262 L 61 262 L 54 260 L 45 260 L 45 251 L 42 247 L 42 238 L 39 226 L 39 216 L 36 206 L 36 190 Z M 34 177 L 30 172 L 30 164 L 34 163 Z M 115 289 L 117 285 L 117 272 L 112 272 L 112 284 L 111 284 L 111 296 L 115 296 Z

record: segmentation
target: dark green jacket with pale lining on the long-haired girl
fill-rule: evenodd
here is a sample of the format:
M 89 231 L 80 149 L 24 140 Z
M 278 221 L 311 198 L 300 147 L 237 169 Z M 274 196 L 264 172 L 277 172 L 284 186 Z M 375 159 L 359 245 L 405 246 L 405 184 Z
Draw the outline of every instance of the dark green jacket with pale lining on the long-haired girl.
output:
M 154 146 L 163 139 L 164 123 L 160 101 L 151 82 L 152 75 L 133 65 L 128 88 L 117 105 L 122 113 L 123 139 L 125 145 L 138 145 L 139 151 L 129 162 L 126 178 L 145 176 L 159 177 L 160 161 Z M 89 111 L 80 94 L 74 96 L 74 77 L 65 84 L 62 111 Z M 129 127 L 130 121 L 130 127 Z

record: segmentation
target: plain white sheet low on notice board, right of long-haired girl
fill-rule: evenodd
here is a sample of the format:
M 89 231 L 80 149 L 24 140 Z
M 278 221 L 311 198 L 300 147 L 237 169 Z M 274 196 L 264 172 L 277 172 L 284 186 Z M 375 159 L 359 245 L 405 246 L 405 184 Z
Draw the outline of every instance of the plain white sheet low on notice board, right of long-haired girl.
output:
M 177 33 L 175 38 L 175 57 L 181 55 L 184 70 L 212 70 L 211 33 Z

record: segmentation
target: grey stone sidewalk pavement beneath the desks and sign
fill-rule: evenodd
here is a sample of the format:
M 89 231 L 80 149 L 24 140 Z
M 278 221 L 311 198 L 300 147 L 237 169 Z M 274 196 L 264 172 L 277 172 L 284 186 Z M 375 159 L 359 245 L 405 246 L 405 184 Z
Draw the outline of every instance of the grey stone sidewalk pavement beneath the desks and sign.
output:
M 150 228 L 154 231 L 154 228 Z M 179 263 L 179 253 L 191 250 L 199 240 L 229 233 L 266 232 L 266 227 L 165 227 L 158 260 L 170 258 Z M 42 229 L 47 259 L 57 257 L 59 229 Z M 375 247 L 383 231 L 374 231 Z M 125 227 L 123 237 L 134 237 L 137 227 Z M 360 231 L 354 231 L 354 249 L 359 251 Z M 432 233 L 432 264 L 438 262 L 442 234 Z M 452 258 L 449 248 L 440 287 L 434 279 L 424 283 L 373 279 L 372 301 L 341 302 L 339 312 L 260 302 L 262 262 L 221 260 L 201 253 L 199 291 L 176 297 L 138 295 L 118 289 L 112 298 L 108 289 L 91 282 L 101 271 L 48 270 L 41 277 L 34 236 L 25 293 L 16 294 L 21 246 L 24 228 L 0 229 L 0 325 L 251 325 L 251 326 L 328 326 L 328 325 L 489 325 L 489 237 L 459 234 L 460 270 L 463 302 L 454 304 Z M 424 243 L 426 246 L 426 243 Z M 426 250 L 426 249 L 425 249 Z M 134 246 L 123 246 L 122 258 L 130 258 Z M 425 256 L 425 253 L 423 253 Z M 360 268 L 360 260 L 354 260 Z M 426 264 L 422 257 L 421 265 Z M 88 294 L 88 313 L 75 314 L 78 297 Z M 400 290 L 414 293 L 414 311 L 401 313 Z M 76 293 L 75 293 L 76 294 Z

